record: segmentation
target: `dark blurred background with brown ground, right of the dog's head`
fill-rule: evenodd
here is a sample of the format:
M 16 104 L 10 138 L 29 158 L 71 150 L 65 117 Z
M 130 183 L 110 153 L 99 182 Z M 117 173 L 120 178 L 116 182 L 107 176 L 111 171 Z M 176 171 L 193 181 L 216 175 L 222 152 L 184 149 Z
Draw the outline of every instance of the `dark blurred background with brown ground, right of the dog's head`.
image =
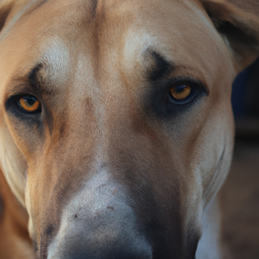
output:
M 236 122 L 232 167 L 220 191 L 228 259 L 259 259 L 259 59 L 233 84 Z

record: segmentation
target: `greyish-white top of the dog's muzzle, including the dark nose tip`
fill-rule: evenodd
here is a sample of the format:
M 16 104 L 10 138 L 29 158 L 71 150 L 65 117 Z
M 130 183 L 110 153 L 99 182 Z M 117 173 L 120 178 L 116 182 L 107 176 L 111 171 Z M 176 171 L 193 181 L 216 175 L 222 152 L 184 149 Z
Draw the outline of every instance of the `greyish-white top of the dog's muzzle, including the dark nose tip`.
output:
M 90 181 L 63 212 L 48 259 L 148 259 L 151 245 L 122 187 Z

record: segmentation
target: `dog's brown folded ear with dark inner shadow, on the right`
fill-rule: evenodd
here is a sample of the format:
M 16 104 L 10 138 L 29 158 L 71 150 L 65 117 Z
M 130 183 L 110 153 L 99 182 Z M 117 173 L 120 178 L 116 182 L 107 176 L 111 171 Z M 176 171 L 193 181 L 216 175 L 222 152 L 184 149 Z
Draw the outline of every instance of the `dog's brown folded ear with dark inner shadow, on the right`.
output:
M 259 55 L 259 18 L 223 1 L 199 1 L 231 49 L 240 72 Z

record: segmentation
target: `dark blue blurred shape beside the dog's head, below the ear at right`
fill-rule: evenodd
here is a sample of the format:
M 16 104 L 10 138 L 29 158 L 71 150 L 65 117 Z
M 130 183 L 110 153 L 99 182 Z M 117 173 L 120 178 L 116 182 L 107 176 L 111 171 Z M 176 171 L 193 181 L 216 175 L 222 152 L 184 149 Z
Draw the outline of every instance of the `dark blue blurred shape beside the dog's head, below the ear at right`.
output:
M 246 84 L 249 74 L 249 68 L 243 70 L 237 75 L 233 82 L 231 102 L 235 119 L 244 116 L 245 113 L 245 98 L 246 98 Z

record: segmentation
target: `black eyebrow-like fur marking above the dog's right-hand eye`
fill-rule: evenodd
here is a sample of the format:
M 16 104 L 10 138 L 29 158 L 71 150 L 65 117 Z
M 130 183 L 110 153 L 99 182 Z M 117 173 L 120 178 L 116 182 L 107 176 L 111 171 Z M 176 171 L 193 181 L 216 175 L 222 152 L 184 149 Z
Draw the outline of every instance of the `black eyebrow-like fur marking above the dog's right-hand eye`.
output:
M 145 55 L 149 60 L 148 78 L 152 81 L 166 77 L 176 69 L 174 63 L 167 61 L 162 55 L 155 51 L 146 51 Z M 150 62 L 151 60 L 151 62 Z

